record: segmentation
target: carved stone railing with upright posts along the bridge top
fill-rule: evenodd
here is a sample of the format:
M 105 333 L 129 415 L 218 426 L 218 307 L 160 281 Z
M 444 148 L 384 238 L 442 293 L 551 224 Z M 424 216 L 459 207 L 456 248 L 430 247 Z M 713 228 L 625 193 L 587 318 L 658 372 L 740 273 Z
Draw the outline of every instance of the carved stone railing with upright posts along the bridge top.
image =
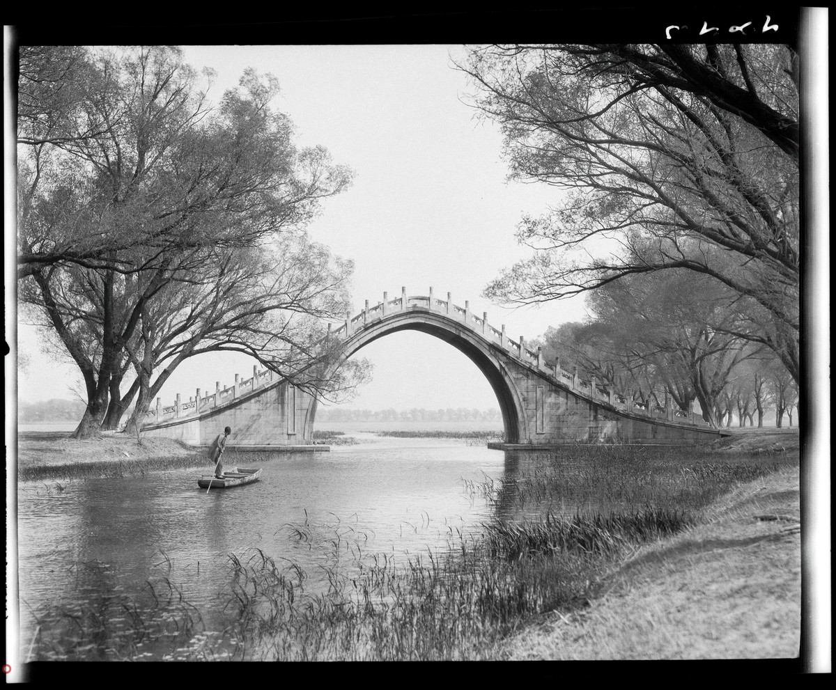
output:
M 567 372 L 560 368 L 559 361 L 546 363 L 543 361 L 542 348 L 538 347 L 536 350 L 529 349 L 526 346 L 525 338 L 522 336 L 520 336 L 518 342 L 507 337 L 504 324 L 497 330 L 496 327 L 493 327 L 488 322 L 487 312 L 482 312 L 482 317 L 471 312 L 469 301 L 465 302 L 464 307 L 453 304 L 450 292 L 447 292 L 446 300 L 435 297 L 432 288 L 430 288 L 429 295 L 413 295 L 407 297 L 406 288 L 403 287 L 400 291 L 400 297 L 393 300 L 390 300 L 388 293 L 384 292 L 383 302 L 378 302 L 376 305 L 370 306 L 369 300 L 366 300 L 363 311 L 354 317 L 351 317 L 349 314 L 343 324 L 336 330 L 329 324 L 329 337 L 339 337 L 344 340 L 354 335 L 354 333 L 363 330 L 367 324 L 377 321 L 379 318 L 390 316 L 391 314 L 405 312 L 410 307 L 423 307 L 429 309 L 431 312 L 439 312 L 446 317 L 461 322 L 466 327 L 472 329 L 472 331 L 477 332 L 488 342 L 493 342 L 498 345 L 508 355 L 516 357 L 529 366 L 537 368 L 539 372 L 557 380 L 558 383 L 563 384 L 566 388 L 595 402 L 609 404 L 621 412 L 640 414 L 653 419 L 708 425 L 701 417 L 695 417 L 692 404 L 687 410 L 675 407 L 670 401 L 665 404 L 665 407 L 651 405 L 650 403 L 635 400 L 631 394 L 622 396 L 615 393 L 612 388 L 604 388 L 594 376 L 589 378 L 589 380 L 580 378 L 577 367 L 573 367 L 571 372 Z M 215 393 L 203 397 L 201 397 L 201 389 L 197 388 L 195 396 L 190 397 L 188 403 L 182 402 L 180 393 L 177 393 L 175 403 L 168 407 L 163 407 L 161 405 L 161 398 L 157 398 L 156 408 L 150 409 L 146 413 L 145 422 L 146 424 L 155 424 L 196 416 L 207 410 L 216 408 L 218 405 L 240 398 L 242 395 L 252 393 L 252 391 L 258 388 L 265 388 L 278 381 L 279 378 L 278 374 L 273 371 L 259 371 L 257 367 L 253 367 L 252 378 L 239 379 L 238 374 L 236 374 L 235 383 L 232 386 L 221 388 L 221 383 L 216 382 Z

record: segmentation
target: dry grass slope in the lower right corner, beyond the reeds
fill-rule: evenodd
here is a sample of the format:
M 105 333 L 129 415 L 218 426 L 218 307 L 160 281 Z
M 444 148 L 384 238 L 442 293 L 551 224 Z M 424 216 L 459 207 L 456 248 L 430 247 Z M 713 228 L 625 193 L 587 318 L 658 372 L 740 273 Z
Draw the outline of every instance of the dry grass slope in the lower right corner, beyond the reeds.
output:
M 777 516 L 776 520 L 756 516 Z M 591 605 L 553 612 L 501 659 L 792 658 L 801 638 L 798 471 L 738 487 L 698 525 L 644 545 Z

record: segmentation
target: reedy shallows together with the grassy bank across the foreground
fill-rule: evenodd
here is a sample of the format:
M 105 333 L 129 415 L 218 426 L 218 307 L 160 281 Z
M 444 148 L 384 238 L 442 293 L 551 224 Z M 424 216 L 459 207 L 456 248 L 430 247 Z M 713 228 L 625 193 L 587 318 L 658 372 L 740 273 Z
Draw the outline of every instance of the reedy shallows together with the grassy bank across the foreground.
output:
M 570 453 L 591 454 L 573 464 Z M 783 657 L 798 652 L 798 455 L 579 447 L 471 483 L 497 519 L 446 550 L 364 552 L 345 527 L 325 592 L 257 549 L 229 556 L 226 616 L 150 580 L 124 601 L 42 616 L 35 658 L 436 660 Z M 596 491 L 594 495 L 591 491 Z M 594 510 L 564 514 L 561 496 Z M 606 506 L 606 507 L 604 507 Z M 318 546 L 321 546 L 318 544 Z M 339 568 L 336 564 L 339 563 Z M 126 616 L 125 611 L 129 614 Z M 48 641 L 48 642 L 47 642 Z

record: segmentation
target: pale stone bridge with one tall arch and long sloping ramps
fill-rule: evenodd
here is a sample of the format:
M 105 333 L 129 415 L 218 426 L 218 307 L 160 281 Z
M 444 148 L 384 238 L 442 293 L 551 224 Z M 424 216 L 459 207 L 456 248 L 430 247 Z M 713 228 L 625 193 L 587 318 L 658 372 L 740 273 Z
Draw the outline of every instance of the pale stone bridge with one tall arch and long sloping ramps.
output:
M 347 318 L 331 337 L 343 343 L 343 358 L 386 335 L 421 331 L 449 342 L 482 371 L 497 395 L 502 410 L 505 444 L 497 448 L 543 448 L 573 443 L 702 444 L 728 432 L 712 429 L 695 419 L 693 409 L 667 403 L 655 407 L 622 397 L 595 380 L 579 378 L 577 368 L 563 371 L 559 363 L 546 363 L 538 348 L 525 339 L 507 337 L 487 319 L 464 307 L 428 295 L 400 297 L 365 307 Z M 196 395 L 186 403 L 178 393 L 171 406 L 150 410 L 143 434 L 208 444 L 225 427 L 232 428 L 230 444 L 237 447 L 295 447 L 325 449 L 313 444 L 317 400 L 294 388 L 273 372 L 252 369 L 252 378 L 236 374 L 232 386 Z M 289 448 L 288 448 L 289 449 Z

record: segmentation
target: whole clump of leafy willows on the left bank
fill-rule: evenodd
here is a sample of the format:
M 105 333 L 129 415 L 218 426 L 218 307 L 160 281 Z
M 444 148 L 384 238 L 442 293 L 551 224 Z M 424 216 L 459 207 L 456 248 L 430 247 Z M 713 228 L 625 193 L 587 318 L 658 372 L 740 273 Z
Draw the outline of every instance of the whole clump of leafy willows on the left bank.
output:
M 20 63 L 19 296 L 84 377 L 78 433 L 137 393 L 141 419 L 208 351 L 339 387 L 314 375 L 332 355 L 311 343 L 344 315 L 352 266 L 304 228 L 352 174 L 293 144 L 276 80 L 247 70 L 213 107 L 212 74 L 201 82 L 179 48 L 22 46 Z

